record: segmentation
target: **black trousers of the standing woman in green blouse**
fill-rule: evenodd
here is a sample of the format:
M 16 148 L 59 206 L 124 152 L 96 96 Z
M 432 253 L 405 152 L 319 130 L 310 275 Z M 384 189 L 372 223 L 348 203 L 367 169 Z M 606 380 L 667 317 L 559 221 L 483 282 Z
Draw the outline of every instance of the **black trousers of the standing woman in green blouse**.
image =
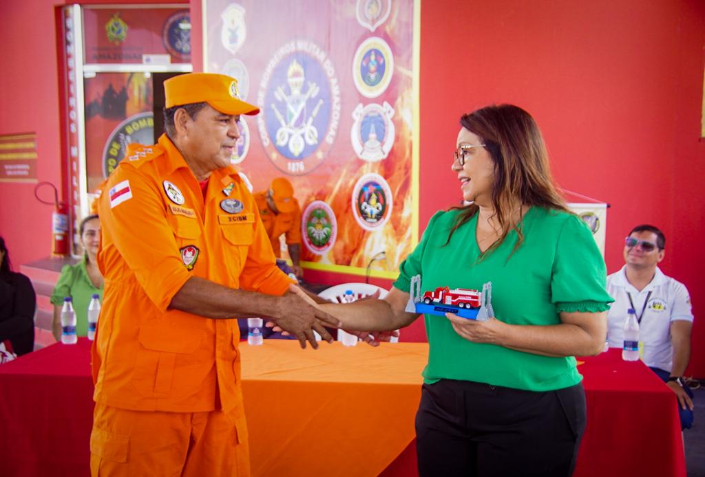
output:
M 582 384 L 555 391 L 441 379 L 416 414 L 419 476 L 570 476 L 585 429 Z

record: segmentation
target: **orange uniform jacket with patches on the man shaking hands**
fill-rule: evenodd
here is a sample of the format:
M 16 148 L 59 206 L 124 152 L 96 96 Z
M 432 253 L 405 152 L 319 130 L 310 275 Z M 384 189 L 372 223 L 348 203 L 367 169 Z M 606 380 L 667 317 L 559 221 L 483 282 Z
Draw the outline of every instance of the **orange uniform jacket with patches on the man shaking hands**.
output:
M 257 205 L 231 167 L 215 170 L 205 198 L 176 147 L 132 148 L 99 198 L 105 278 L 92 351 L 94 399 L 135 410 L 223 409 L 244 427 L 235 319 L 168 310 L 191 276 L 282 295 Z

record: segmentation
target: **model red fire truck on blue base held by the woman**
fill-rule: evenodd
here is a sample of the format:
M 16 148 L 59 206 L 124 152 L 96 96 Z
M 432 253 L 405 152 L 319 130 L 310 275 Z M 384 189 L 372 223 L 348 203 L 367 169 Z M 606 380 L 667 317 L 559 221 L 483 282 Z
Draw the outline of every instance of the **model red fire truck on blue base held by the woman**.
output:
M 457 314 L 467 319 L 486 320 L 494 318 L 492 310 L 492 283 L 487 282 L 482 286 L 482 291 L 469 288 L 448 288 L 439 286 L 434 291 L 427 291 L 421 295 L 421 276 L 411 279 L 410 299 L 407 312 L 438 314 Z M 420 295 L 420 296 L 419 296 Z

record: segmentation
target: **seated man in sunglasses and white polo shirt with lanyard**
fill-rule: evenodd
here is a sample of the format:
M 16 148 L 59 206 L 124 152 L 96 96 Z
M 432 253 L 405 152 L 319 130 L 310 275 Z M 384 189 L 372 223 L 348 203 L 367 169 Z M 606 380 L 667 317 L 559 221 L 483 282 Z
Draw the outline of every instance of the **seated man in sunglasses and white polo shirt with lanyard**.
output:
M 615 299 L 607 314 L 608 341 L 621 348 L 627 310 L 639 321 L 642 360 L 666 382 L 678 398 L 682 428 L 693 421 L 692 390 L 682 376 L 690 359 L 693 314 L 685 286 L 658 268 L 666 237 L 651 225 L 634 227 L 625 239 L 625 265 L 607 277 L 607 291 Z

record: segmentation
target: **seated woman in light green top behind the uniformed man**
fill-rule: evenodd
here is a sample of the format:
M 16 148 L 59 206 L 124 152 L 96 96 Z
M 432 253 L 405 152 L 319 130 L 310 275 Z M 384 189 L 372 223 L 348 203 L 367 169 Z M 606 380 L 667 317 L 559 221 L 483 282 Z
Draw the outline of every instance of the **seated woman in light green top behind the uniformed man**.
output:
M 86 336 L 88 333 L 88 305 L 91 295 L 100 295 L 103 301 L 103 276 L 96 262 L 100 245 L 100 220 L 97 215 L 89 215 L 82 220 L 80 240 L 85 253 L 83 260 L 76 265 L 66 265 L 61 269 L 61 276 L 51 293 L 54 304 L 54 322 L 51 324 L 56 341 L 61 340 L 61 305 L 67 296 L 73 298 L 73 310 L 76 313 L 76 334 Z

